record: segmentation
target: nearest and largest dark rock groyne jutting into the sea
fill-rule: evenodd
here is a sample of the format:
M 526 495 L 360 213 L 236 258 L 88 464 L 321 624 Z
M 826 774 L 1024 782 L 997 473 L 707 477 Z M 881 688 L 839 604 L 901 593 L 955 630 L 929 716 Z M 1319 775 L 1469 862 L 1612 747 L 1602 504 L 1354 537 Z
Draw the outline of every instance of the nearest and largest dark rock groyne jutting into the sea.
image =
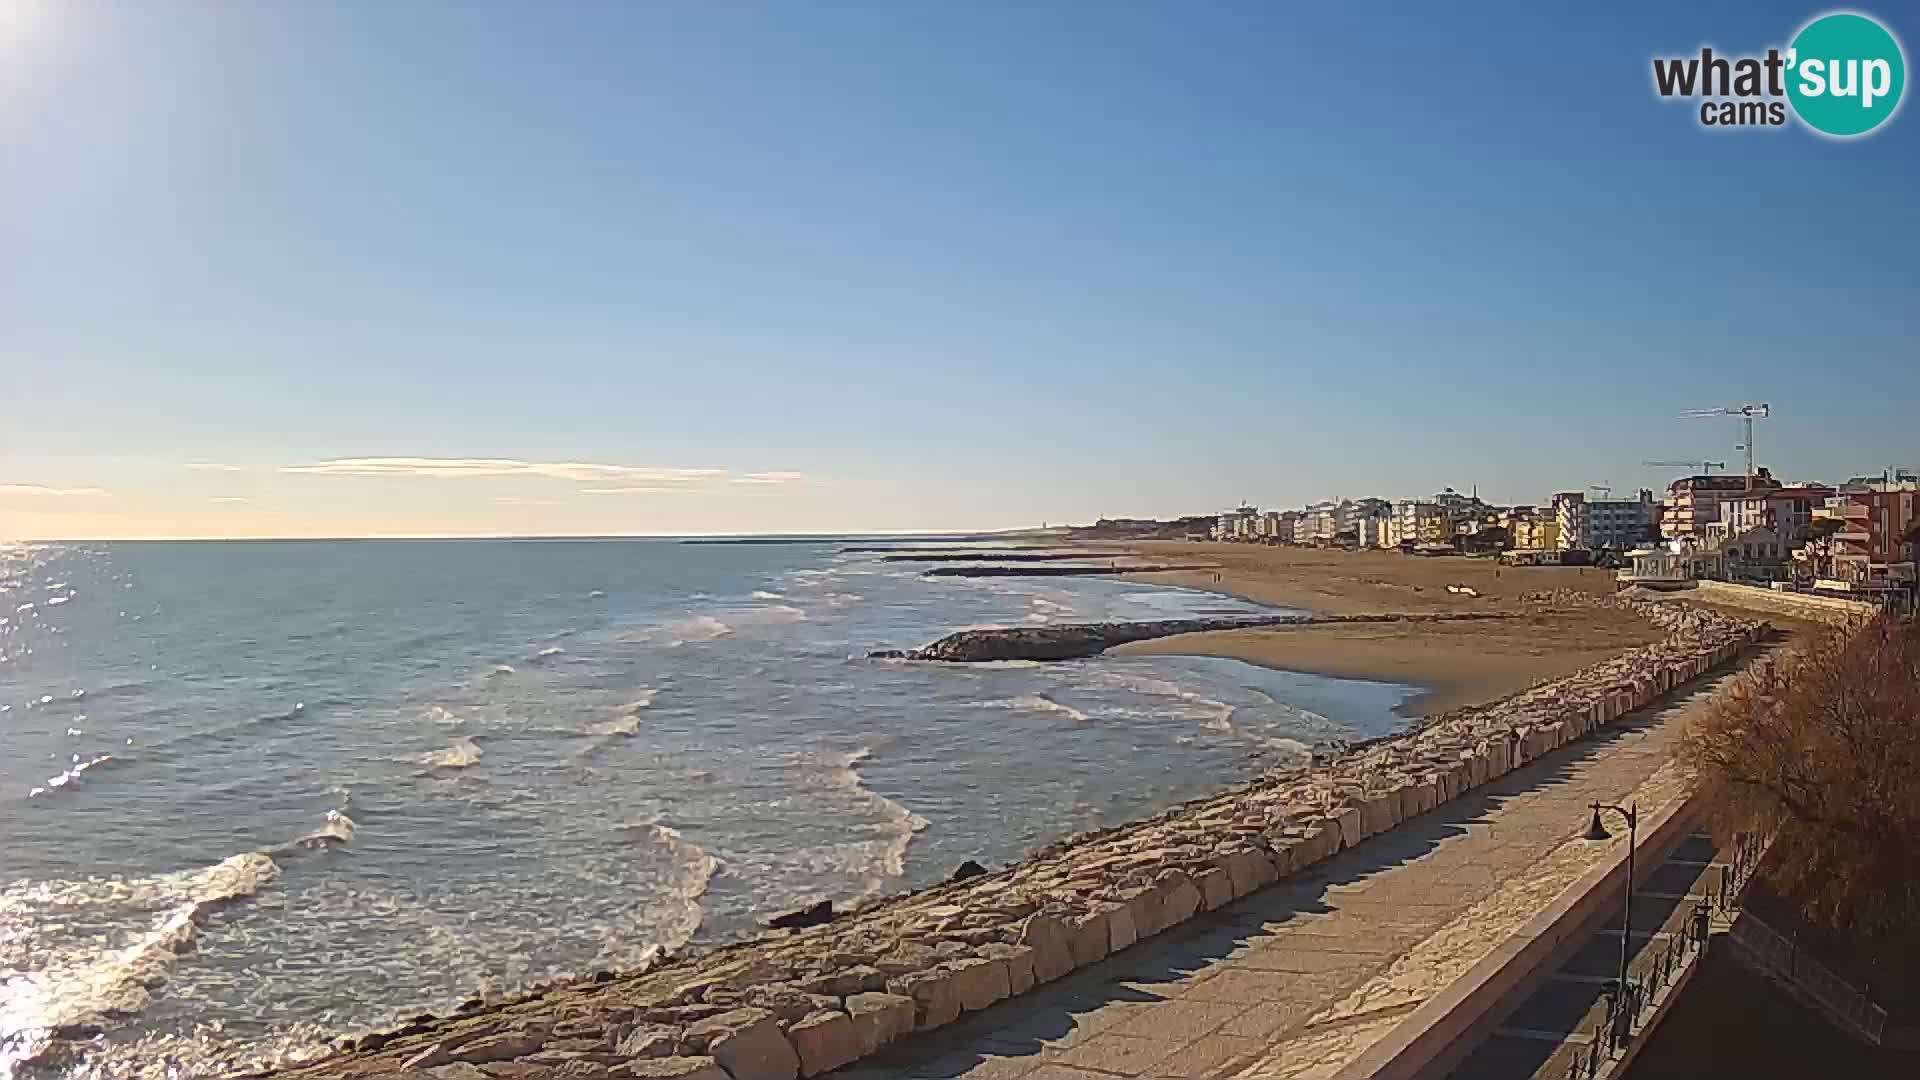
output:
M 945 663 L 989 663 L 1008 659 L 1079 659 L 1127 642 L 1204 634 L 1208 630 L 1250 630 L 1258 626 L 1325 626 L 1338 623 L 1461 623 L 1478 619 L 1519 619 L 1511 611 L 1434 611 L 1382 615 L 1227 615 L 1219 619 L 1146 619 L 1139 623 L 1064 623 L 1060 626 L 993 626 L 958 630 L 918 650 L 877 650 L 868 659 L 931 659 Z

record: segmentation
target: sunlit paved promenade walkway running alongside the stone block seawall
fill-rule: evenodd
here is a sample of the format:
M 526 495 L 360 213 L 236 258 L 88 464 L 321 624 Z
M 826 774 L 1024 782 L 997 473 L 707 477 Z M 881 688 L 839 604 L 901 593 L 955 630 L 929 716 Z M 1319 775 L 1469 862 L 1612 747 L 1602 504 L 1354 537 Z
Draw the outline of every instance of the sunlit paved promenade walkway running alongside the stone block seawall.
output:
M 1653 815 L 1684 794 L 1670 751 L 1715 682 L 835 1080 L 1332 1076 L 1619 857 L 1580 840 L 1588 803 Z

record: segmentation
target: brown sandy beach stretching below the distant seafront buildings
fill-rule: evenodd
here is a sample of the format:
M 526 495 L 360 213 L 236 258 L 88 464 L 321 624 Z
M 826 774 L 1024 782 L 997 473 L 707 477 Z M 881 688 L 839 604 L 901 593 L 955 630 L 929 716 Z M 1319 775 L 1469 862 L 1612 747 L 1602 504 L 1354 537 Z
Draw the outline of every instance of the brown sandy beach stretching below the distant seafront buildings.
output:
M 1139 580 L 1240 596 L 1329 615 L 1371 611 L 1517 611 L 1488 623 L 1267 626 L 1181 634 L 1119 646 L 1117 653 L 1231 657 L 1286 671 L 1425 686 L 1411 715 L 1490 701 L 1632 646 L 1659 632 L 1628 611 L 1524 600 L 1528 594 L 1613 592 L 1613 575 L 1580 567 L 1500 567 L 1492 559 L 1423 559 L 1398 552 L 1331 552 L 1250 544 L 1137 544 L 1156 561 L 1213 563 L 1212 571 L 1140 575 Z M 1452 594 L 1469 586 L 1476 598 Z

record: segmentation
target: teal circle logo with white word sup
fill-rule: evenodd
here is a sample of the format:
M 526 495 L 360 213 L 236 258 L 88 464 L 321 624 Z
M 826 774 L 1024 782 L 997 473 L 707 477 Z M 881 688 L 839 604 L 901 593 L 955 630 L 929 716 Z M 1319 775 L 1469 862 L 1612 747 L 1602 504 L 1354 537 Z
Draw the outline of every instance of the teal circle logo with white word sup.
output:
M 1885 27 L 1837 12 L 1807 23 L 1788 50 L 1788 100 L 1807 127 L 1849 138 L 1901 108 L 1907 58 Z

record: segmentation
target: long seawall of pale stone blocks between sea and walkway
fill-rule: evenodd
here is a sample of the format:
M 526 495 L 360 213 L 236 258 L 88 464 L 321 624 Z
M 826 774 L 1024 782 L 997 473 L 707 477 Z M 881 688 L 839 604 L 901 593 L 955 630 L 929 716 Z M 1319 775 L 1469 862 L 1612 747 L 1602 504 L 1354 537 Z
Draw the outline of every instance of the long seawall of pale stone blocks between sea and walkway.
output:
M 1732 661 L 1764 623 L 1622 601 L 1667 630 L 1565 678 L 1327 763 L 1073 836 L 806 930 L 470 1001 L 284 1076 L 795 1080 L 1223 907 Z

